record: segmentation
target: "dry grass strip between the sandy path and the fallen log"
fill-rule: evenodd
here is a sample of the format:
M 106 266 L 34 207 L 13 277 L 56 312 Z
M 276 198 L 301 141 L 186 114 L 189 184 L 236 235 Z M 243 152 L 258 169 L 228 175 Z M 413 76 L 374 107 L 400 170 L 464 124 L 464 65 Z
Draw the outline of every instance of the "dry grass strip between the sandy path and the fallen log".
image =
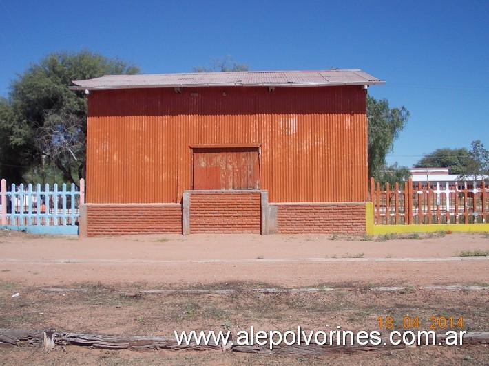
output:
M 470 331 L 489 329 L 489 319 L 475 316 L 486 311 L 487 290 L 415 290 L 377 292 L 371 286 L 345 283 L 334 291 L 288 292 L 269 283 L 216 283 L 209 293 L 180 290 L 149 294 L 141 284 L 105 288 L 85 283 L 79 291 L 46 292 L 37 288 L 19 289 L 14 283 L 0 283 L 3 311 L 0 327 L 34 329 L 54 327 L 76 332 L 109 334 L 172 334 L 173 330 L 219 330 L 222 324 L 239 330 L 256 325 L 266 329 L 293 329 L 297 325 L 322 329 L 326 324 L 348 329 L 375 329 L 379 316 L 416 315 L 428 325 L 430 316 L 444 311 L 464 316 Z M 261 288 L 261 291 L 256 291 Z M 171 289 L 169 289 L 171 290 Z M 216 290 L 231 290 L 216 293 Z M 13 292 L 20 296 L 12 298 Z M 482 314 L 482 313 L 481 313 Z M 352 320 L 353 319 L 353 320 Z M 149 332 L 149 333 L 148 333 Z

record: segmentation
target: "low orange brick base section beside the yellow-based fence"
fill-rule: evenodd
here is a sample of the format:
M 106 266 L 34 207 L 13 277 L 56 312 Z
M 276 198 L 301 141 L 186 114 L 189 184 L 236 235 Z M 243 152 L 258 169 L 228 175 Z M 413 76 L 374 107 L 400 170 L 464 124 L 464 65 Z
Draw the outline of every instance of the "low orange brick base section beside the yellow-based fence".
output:
M 282 234 L 366 234 L 365 202 L 273 204 Z

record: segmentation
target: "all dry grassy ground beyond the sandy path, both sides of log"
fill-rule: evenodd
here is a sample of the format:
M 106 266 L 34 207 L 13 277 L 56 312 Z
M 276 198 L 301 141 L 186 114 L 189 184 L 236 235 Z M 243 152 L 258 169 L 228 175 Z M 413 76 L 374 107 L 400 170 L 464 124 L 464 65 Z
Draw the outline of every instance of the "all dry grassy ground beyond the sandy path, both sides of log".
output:
M 378 318 L 393 316 L 395 329 L 402 330 L 404 316 L 418 316 L 419 330 L 430 325 L 430 316 L 464 317 L 464 330 L 481 332 L 489 329 L 487 316 L 488 290 L 419 290 L 415 286 L 395 292 L 373 290 L 377 286 L 356 286 L 343 283 L 333 291 L 328 283 L 315 286 L 315 292 L 288 292 L 273 283 L 214 283 L 210 286 L 191 286 L 183 289 L 158 286 L 165 293 L 146 293 L 145 283 L 105 287 L 101 283 L 83 283 L 77 291 L 47 292 L 40 288 L 19 288 L 16 283 L 0 282 L 0 327 L 71 330 L 96 334 L 172 336 L 174 330 L 330 330 L 340 325 L 344 330 L 379 330 Z M 256 290 L 259 289 L 260 291 Z M 324 290 L 322 290 L 324 289 Z M 207 290 L 207 293 L 188 293 L 188 290 Z M 227 290 L 217 293 L 219 290 Z M 12 298 L 13 292 L 20 296 Z M 386 330 L 380 330 L 386 334 Z M 262 364 L 300 365 L 337 362 L 395 364 L 404 360 L 417 362 L 441 360 L 437 348 L 423 347 L 414 352 L 405 350 L 382 355 L 375 352 L 353 356 L 258 356 L 232 352 L 166 352 L 165 363 L 190 364 Z M 449 352 L 450 349 L 446 349 Z M 3 352 L 3 353 L 2 353 Z M 25 350 L 0 351 L 0 358 L 15 360 L 27 357 Z M 28 352 L 36 352 L 29 350 Z M 60 349 L 50 356 L 36 354 L 39 363 L 96 363 L 110 365 L 158 364 L 160 353 L 116 352 L 70 348 L 67 354 Z M 32 353 L 31 353 L 32 354 Z M 482 364 L 484 349 L 459 349 L 458 361 L 464 357 Z M 159 357 L 158 357 L 159 356 Z M 446 356 L 446 354 L 445 354 Z M 339 357 L 339 358 L 338 358 Z M 346 357 L 346 358 L 345 358 Z M 394 357 L 394 358 L 392 358 Z M 407 357 L 407 358 L 406 358 Z M 443 358 L 445 359 L 445 358 Z M 455 358 L 454 362 L 455 362 Z M 42 361 L 42 362 L 41 362 Z M 396 361 L 393 363 L 393 361 Z M 458 362 L 457 361 L 457 362 Z M 475 362 L 477 364 L 477 362 Z M 37 363 L 37 361 L 36 361 Z

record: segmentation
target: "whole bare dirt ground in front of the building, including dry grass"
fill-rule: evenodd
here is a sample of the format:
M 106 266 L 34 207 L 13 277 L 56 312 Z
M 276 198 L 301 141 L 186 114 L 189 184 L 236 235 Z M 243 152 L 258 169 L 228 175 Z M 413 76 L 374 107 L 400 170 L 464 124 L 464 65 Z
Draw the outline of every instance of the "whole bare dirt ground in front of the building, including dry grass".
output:
M 395 328 L 402 329 L 404 316 L 418 316 L 419 329 L 428 329 L 431 316 L 452 316 L 463 317 L 468 332 L 489 331 L 489 257 L 460 257 L 464 251 L 487 253 L 489 235 L 383 239 L 239 234 L 79 239 L 1 231 L 0 328 L 142 336 L 171 336 L 174 330 L 236 334 L 251 325 L 371 331 L 379 329 L 379 317 L 393 316 Z M 400 288 L 379 289 L 385 286 Z M 289 291 L 297 288 L 314 291 Z M 0 349 L 5 365 L 487 365 L 488 359 L 485 346 L 331 356 Z

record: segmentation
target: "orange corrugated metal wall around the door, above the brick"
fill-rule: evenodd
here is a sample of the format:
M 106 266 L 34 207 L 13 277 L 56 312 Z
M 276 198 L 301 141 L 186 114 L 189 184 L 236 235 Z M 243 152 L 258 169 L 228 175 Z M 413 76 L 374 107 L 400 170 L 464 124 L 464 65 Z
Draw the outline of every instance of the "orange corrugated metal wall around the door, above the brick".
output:
M 260 145 L 269 202 L 363 202 L 366 95 L 358 86 L 118 89 L 89 96 L 87 202 L 180 202 L 191 147 Z

